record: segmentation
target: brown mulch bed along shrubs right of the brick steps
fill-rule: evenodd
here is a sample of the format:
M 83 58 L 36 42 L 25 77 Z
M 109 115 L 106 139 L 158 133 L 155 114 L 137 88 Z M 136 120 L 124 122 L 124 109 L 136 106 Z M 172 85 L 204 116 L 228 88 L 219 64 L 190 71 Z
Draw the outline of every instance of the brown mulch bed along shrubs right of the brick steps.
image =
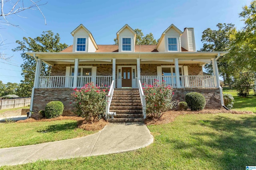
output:
M 232 114 L 255 114 L 252 111 L 235 111 L 235 110 L 225 110 L 225 109 L 204 109 L 202 111 L 166 111 L 160 117 L 160 119 L 154 118 L 146 118 L 145 124 L 146 125 L 161 125 L 166 124 L 174 121 L 175 117 L 178 115 L 185 115 L 185 114 L 207 114 L 207 113 L 232 113 Z

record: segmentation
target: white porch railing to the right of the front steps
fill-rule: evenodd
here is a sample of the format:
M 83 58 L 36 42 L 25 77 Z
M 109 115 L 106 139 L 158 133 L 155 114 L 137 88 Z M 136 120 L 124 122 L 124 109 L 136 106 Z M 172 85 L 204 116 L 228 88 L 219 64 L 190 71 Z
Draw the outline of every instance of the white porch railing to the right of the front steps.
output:
M 176 76 L 140 76 L 142 86 L 154 85 L 154 82 L 162 82 L 172 87 L 177 87 Z M 214 76 L 180 76 L 180 87 L 213 88 Z

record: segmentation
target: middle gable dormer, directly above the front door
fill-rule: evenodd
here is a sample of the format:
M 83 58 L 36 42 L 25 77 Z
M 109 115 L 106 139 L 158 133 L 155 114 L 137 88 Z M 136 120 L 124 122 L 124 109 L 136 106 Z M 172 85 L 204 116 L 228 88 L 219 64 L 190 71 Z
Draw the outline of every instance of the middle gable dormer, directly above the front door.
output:
M 134 52 L 136 32 L 128 25 L 124 25 L 117 33 L 118 51 Z

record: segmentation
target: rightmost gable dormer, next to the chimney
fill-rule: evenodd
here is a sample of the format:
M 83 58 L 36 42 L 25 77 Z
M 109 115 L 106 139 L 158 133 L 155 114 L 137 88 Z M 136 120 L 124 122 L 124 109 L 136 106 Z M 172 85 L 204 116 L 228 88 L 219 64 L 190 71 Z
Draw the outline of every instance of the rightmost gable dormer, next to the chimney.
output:
M 175 25 L 170 25 L 170 27 L 162 33 L 156 45 L 156 49 L 159 52 L 181 52 L 180 35 L 182 35 L 182 31 Z

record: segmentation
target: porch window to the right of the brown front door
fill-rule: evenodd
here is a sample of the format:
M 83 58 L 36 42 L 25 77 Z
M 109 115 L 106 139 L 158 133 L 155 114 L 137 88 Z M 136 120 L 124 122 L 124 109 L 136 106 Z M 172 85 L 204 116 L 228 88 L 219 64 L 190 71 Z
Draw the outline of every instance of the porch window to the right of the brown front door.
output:
M 182 76 L 182 68 L 179 67 L 179 72 L 180 72 L 180 76 Z M 176 72 L 175 72 L 175 68 L 174 67 L 166 67 L 166 68 L 162 68 L 162 76 L 163 76 L 163 80 L 164 82 L 166 82 L 167 85 L 176 87 Z M 182 86 L 182 79 L 180 78 L 180 86 Z

